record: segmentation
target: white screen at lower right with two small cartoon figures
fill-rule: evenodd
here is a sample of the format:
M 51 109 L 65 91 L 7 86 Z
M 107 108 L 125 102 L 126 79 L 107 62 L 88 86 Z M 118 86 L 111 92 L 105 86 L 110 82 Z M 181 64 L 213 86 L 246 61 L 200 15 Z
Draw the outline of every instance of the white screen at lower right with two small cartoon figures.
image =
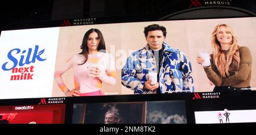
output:
M 221 112 L 223 123 L 226 123 L 226 117 L 222 111 L 195 111 L 196 124 L 220 123 L 218 112 Z M 228 111 L 229 123 L 256 123 L 256 110 L 230 110 Z

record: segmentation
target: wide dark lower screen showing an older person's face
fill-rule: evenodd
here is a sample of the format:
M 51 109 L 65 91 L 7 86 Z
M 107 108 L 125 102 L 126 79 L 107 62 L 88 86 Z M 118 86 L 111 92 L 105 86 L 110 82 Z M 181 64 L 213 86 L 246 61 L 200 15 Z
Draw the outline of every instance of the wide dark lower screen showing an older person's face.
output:
M 185 101 L 86 103 L 73 105 L 72 123 L 184 124 Z

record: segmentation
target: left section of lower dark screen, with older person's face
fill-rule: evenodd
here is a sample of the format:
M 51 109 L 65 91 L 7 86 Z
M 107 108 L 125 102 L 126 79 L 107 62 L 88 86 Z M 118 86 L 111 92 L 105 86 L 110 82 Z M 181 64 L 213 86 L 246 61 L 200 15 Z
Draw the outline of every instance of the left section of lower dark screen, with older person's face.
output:
M 73 123 L 144 123 L 145 102 L 74 104 Z

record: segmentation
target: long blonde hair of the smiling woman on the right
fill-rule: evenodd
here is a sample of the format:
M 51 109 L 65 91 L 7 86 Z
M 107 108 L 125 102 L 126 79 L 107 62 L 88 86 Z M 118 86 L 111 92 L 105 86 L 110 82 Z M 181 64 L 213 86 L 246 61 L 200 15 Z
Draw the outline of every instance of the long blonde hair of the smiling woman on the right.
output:
M 228 50 L 228 53 L 224 53 L 224 51 L 221 49 L 220 42 L 217 40 L 217 33 L 220 32 L 220 27 L 224 26 L 229 29 L 230 33 L 232 34 L 232 42 L 231 47 Z M 212 32 L 212 47 L 213 47 L 213 60 L 214 63 L 220 72 L 220 75 L 222 77 L 228 77 L 229 74 L 229 66 L 232 63 L 232 60 L 236 60 L 238 62 L 238 66 L 240 63 L 240 54 L 239 49 L 240 46 L 237 44 L 237 37 L 235 36 L 232 29 L 229 27 L 229 25 L 226 24 L 218 24 Z

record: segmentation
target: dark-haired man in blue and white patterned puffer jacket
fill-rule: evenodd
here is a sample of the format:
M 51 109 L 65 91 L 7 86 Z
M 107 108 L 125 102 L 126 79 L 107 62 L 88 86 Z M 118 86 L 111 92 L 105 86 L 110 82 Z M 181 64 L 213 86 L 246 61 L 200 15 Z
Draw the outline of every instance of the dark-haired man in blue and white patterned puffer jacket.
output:
M 122 68 L 122 84 L 134 94 L 193 92 L 191 62 L 179 49 L 167 45 L 166 28 L 144 28 L 147 45 L 135 51 Z

